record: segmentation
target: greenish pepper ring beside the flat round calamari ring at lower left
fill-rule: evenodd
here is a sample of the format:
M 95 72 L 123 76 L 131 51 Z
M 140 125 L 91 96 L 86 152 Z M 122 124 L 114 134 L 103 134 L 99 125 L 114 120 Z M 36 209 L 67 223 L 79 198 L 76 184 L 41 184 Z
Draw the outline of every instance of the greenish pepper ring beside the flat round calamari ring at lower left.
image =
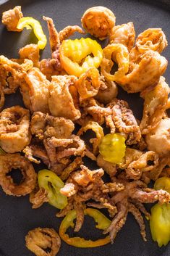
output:
M 56 173 L 51 170 L 40 170 L 38 172 L 38 185 L 40 188 L 48 191 L 47 197 L 50 205 L 63 209 L 67 205 L 67 197 L 60 193 L 60 189 L 64 187 Z

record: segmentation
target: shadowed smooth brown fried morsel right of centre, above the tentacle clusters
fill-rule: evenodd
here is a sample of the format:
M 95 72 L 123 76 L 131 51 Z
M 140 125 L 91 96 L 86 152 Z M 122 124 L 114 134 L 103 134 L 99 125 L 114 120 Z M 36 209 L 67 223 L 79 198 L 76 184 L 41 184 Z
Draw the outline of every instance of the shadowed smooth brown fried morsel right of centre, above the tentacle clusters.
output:
M 107 80 L 104 77 L 101 77 L 102 82 L 106 87 L 102 88 L 102 86 L 98 90 L 98 94 L 95 96 L 98 102 L 103 104 L 109 104 L 112 99 L 116 98 L 118 90 L 116 83 L 114 81 Z

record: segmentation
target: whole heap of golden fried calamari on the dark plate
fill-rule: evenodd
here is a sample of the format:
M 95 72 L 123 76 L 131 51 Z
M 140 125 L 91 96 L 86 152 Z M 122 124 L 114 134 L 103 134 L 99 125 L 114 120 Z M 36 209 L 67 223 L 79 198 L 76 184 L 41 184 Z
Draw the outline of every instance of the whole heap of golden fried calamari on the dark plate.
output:
M 17 22 L 22 16 L 21 7 L 14 7 L 4 12 L 2 22 L 8 30 L 19 32 Z M 161 55 L 166 36 L 161 28 L 149 28 L 135 40 L 133 23 L 115 25 L 114 13 L 105 7 L 92 7 L 84 13 L 85 31 L 73 25 L 58 33 L 51 18 L 43 20 L 48 25 L 51 57 L 40 59 L 36 44 L 20 49 L 18 59 L 0 56 L 1 109 L 5 95 L 17 88 L 25 104 L 25 108 L 14 106 L 0 113 L 4 150 L 0 185 L 12 196 L 30 194 L 33 208 L 50 203 L 60 209 L 58 217 L 67 218 L 75 211 L 76 232 L 82 227 L 87 206 L 106 208 L 111 222 L 101 229 L 109 233 L 107 242 L 111 243 L 131 212 L 146 241 L 143 215 L 149 218 L 150 214 L 143 204 L 170 201 L 169 192 L 148 188 L 150 181 L 170 173 L 170 120 L 166 114 L 170 89 L 162 76 L 167 60 Z M 67 39 L 75 32 L 109 38 L 109 44 L 101 49 L 90 38 Z M 115 63 L 118 70 L 112 73 Z M 140 92 L 142 120 L 135 118 L 127 102 L 117 98 L 118 85 L 128 93 Z M 89 139 L 90 131 L 93 137 Z M 96 170 L 85 166 L 85 157 L 95 161 Z M 33 162 L 43 162 L 49 170 L 37 175 Z M 20 184 L 9 175 L 17 168 L 23 176 Z M 38 256 L 55 256 L 61 244 L 50 228 L 35 228 L 25 240 Z M 46 248 L 51 251 L 46 253 Z

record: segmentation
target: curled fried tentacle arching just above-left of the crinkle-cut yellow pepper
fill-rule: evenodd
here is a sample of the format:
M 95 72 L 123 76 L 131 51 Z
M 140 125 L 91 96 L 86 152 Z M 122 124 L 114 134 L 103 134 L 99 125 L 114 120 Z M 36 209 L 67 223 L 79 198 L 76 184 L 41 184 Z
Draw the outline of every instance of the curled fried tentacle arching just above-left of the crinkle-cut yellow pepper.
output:
M 72 36 L 75 32 L 78 32 L 80 34 L 85 34 L 85 32 L 82 30 L 82 28 L 80 28 L 77 25 L 67 26 L 63 30 L 59 31 L 60 44 L 62 43 L 63 40 L 66 40 L 67 38 L 69 38 L 69 36 Z

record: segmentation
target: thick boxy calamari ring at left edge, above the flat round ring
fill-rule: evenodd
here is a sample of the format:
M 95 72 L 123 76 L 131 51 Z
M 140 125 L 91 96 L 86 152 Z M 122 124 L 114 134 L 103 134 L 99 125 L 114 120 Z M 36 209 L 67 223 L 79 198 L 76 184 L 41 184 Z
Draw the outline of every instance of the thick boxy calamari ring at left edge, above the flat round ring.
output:
M 30 143 L 30 112 L 20 106 L 0 113 L 0 146 L 5 152 L 20 152 Z

